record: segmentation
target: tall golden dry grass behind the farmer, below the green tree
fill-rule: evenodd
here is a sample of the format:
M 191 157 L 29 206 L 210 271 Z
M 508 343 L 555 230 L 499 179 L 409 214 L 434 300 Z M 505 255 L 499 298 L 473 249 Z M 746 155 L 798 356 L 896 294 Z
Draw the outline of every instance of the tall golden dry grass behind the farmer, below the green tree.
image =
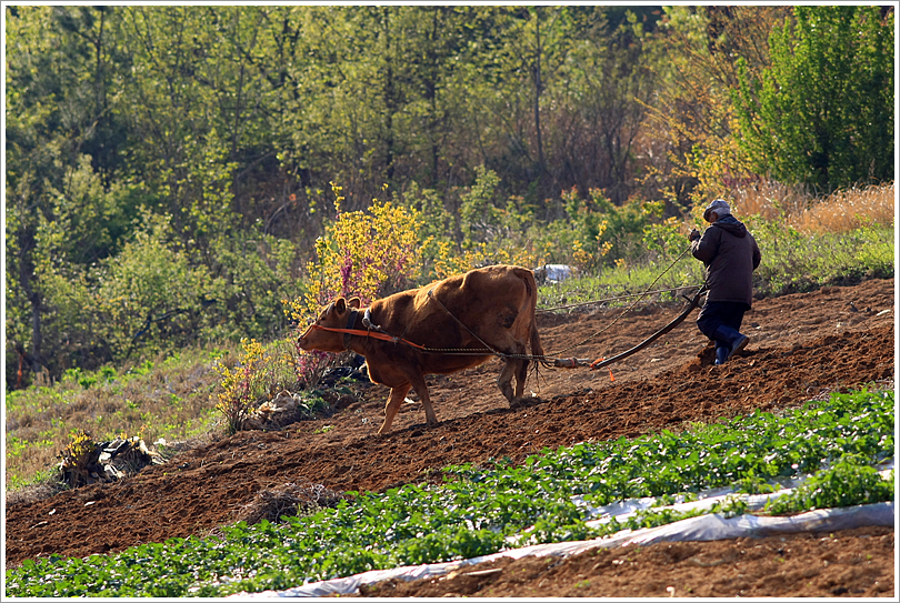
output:
M 730 201 L 737 215 L 759 215 L 779 221 L 808 235 L 894 223 L 893 183 L 814 198 L 803 187 L 768 181 L 734 191 Z

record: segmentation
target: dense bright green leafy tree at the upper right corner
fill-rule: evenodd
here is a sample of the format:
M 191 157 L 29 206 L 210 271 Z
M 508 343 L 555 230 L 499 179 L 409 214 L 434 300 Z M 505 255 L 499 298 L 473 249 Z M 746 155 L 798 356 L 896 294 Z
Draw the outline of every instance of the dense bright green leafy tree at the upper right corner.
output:
M 894 178 L 893 18 L 797 7 L 770 34 L 770 67 L 738 59 L 736 139 L 754 173 L 826 191 Z

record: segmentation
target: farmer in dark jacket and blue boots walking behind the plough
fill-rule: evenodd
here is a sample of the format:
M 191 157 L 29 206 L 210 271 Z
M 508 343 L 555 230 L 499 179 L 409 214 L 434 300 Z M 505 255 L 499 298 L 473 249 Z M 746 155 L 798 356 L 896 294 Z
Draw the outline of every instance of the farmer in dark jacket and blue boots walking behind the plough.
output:
M 703 235 L 697 229 L 688 235 L 691 253 L 707 267 L 709 288 L 697 326 L 716 342 L 716 364 L 724 364 L 750 341 L 739 329 L 753 301 L 752 275 L 762 255 L 753 235 L 722 199 L 707 205 L 703 220 L 712 224 Z

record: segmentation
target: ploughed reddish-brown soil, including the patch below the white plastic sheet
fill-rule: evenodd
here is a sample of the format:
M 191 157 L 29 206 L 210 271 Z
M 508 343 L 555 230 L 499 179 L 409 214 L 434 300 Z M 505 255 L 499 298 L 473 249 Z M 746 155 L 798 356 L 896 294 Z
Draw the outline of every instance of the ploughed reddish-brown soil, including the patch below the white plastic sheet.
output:
M 889 279 L 757 300 L 742 328 L 750 343 L 723 366 L 712 365 L 694 311 L 611 371 L 531 373 L 526 391 L 533 398 L 516 409 L 494 383 L 501 361 L 491 360 L 429 378 L 439 423 L 424 424 L 411 393 L 386 436 L 376 431 L 388 389 L 360 384 L 329 416 L 241 432 L 120 482 L 8 505 L 7 567 L 26 559 L 112 553 L 208 535 L 240 519 L 260 492 L 289 483 L 384 491 L 439 480 L 434 470 L 448 464 L 504 456 L 521 462 L 544 448 L 678 430 L 754 409 L 778 412 L 861 385 L 893 388 L 894 299 Z M 683 305 L 642 302 L 624 315 L 602 306 L 541 312 L 538 325 L 548 356 L 610 358 L 654 333 Z M 894 563 L 894 530 L 873 526 L 502 560 L 444 579 L 388 581 L 360 594 L 893 596 Z

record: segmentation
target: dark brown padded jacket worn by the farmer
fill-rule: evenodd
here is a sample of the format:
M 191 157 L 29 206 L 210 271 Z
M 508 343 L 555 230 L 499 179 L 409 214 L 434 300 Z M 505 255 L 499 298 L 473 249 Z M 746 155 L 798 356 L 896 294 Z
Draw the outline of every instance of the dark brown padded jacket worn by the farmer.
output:
M 762 254 L 756 239 L 733 215 L 724 215 L 691 242 L 691 253 L 707 267 L 708 302 L 753 303 L 753 271 Z

